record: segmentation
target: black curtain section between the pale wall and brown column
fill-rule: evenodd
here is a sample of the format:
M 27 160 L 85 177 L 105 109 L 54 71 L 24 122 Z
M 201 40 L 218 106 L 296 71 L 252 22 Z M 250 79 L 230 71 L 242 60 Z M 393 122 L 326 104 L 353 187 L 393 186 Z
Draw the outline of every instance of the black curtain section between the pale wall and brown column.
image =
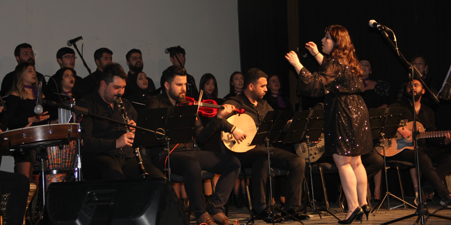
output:
M 288 51 L 286 0 L 238 0 L 238 21 L 241 72 L 258 68 L 276 74 L 283 92 L 289 93 L 289 65 L 284 58 Z

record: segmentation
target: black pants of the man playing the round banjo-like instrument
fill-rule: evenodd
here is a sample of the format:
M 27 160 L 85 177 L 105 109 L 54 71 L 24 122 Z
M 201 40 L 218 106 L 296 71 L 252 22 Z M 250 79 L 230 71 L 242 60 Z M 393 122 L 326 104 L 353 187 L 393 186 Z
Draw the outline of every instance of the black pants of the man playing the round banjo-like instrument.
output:
M 288 182 L 286 184 L 285 206 L 300 206 L 302 180 L 304 178 L 305 161 L 298 155 L 270 147 L 271 166 L 283 170 L 288 170 Z M 266 184 L 268 180 L 268 152 L 264 146 L 256 146 L 247 152 L 227 153 L 236 156 L 242 168 L 252 168 L 252 187 L 254 204 L 264 204 L 266 202 Z

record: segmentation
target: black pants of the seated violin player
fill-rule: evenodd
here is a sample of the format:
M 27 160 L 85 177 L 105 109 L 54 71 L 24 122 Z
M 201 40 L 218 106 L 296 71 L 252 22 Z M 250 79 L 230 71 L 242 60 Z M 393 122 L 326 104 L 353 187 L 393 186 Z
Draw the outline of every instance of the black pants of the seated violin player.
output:
M 171 172 L 183 176 L 190 207 L 196 218 L 206 213 L 201 171 L 220 174 L 213 195 L 210 214 L 223 212 L 240 171 L 240 162 L 232 155 L 211 151 L 177 151 L 170 155 Z M 158 168 L 165 167 L 166 154 L 159 157 Z M 166 165 L 167 167 L 167 165 Z

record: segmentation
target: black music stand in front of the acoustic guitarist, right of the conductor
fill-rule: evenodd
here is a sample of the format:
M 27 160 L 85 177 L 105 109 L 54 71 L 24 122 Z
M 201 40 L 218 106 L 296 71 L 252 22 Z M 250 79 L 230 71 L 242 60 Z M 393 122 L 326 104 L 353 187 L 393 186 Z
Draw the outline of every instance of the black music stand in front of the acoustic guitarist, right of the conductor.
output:
M 401 122 L 402 114 L 403 114 L 404 108 L 403 107 L 388 107 L 388 108 L 370 108 L 368 109 L 368 114 L 370 115 L 370 127 L 371 127 L 371 134 L 373 137 L 373 140 L 388 140 L 388 144 L 391 142 L 391 138 L 397 137 L 397 131 Z M 388 177 L 387 177 L 387 167 L 386 164 L 386 153 L 385 153 L 385 144 L 384 142 L 380 142 L 380 147 L 382 147 L 383 150 L 383 158 L 384 158 L 384 175 L 385 175 L 385 196 L 382 198 L 382 200 L 377 204 L 377 206 L 371 211 L 372 213 L 374 210 L 376 212 L 373 214 L 373 216 L 376 216 L 377 212 L 379 211 L 380 207 L 382 206 L 385 199 L 387 199 L 387 210 L 396 209 L 400 206 L 404 205 L 404 208 L 406 208 L 406 205 L 409 205 L 413 208 L 416 208 L 415 206 L 409 204 L 404 199 L 401 199 L 397 197 L 396 195 L 392 194 L 388 191 Z M 403 204 L 395 207 L 390 207 L 390 198 L 395 198 Z

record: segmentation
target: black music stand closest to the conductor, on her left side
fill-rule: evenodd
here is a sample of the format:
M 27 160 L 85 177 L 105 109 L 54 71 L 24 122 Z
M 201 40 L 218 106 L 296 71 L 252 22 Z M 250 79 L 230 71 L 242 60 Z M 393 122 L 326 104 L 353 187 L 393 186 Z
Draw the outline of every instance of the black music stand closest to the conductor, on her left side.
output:
M 310 207 L 312 208 L 312 212 L 317 212 L 319 215 L 319 218 L 322 219 L 321 213 L 318 210 L 319 208 L 331 214 L 336 219 L 340 220 L 338 217 L 336 217 L 331 211 L 329 211 L 324 206 L 321 206 L 318 202 L 315 200 L 315 193 L 313 191 L 313 171 L 312 171 L 312 162 L 310 159 L 310 156 L 313 155 L 313 153 L 310 152 L 310 140 L 318 140 L 321 137 L 321 133 L 323 132 L 324 127 L 324 110 L 322 109 L 314 109 L 314 110 L 305 110 L 305 111 L 299 111 L 295 114 L 292 124 L 289 127 L 288 134 L 286 135 L 285 139 L 283 140 L 283 143 L 298 143 L 301 141 L 307 142 L 307 149 L 308 149 L 308 159 L 309 159 L 309 170 L 310 170 L 310 184 L 312 188 L 312 200 L 310 200 Z

